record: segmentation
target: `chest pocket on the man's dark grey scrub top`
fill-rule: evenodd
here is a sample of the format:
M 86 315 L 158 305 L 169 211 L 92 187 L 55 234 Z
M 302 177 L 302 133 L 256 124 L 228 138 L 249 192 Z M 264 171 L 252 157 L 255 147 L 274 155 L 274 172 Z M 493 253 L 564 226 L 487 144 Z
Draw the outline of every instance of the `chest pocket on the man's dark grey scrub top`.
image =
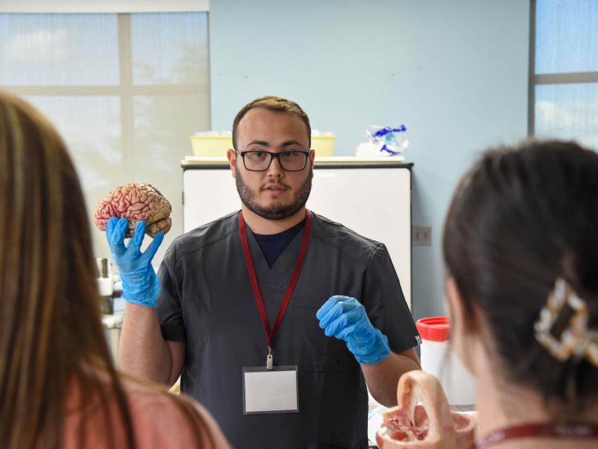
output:
M 291 358 L 300 371 L 343 372 L 357 363 L 344 341 L 326 336 L 319 327 L 319 305 L 300 301 L 291 305 Z

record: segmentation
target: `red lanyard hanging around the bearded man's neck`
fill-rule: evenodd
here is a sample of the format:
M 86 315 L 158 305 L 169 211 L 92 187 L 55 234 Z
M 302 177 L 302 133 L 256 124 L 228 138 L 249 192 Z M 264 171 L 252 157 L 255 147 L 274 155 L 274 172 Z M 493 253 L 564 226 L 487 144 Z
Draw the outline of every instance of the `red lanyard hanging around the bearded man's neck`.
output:
M 305 259 L 305 253 L 307 253 L 307 244 L 310 240 L 311 225 L 312 217 L 310 215 L 310 211 L 305 210 L 305 229 L 303 231 L 303 240 L 301 241 L 301 248 L 299 250 L 297 263 L 295 263 L 295 270 L 293 270 L 291 280 L 288 282 L 288 286 L 286 287 L 284 298 L 280 305 L 278 315 L 276 316 L 276 321 L 274 321 L 274 327 L 272 327 L 271 331 L 270 325 L 268 323 L 268 315 L 266 313 L 264 300 L 262 298 L 262 293 L 260 293 L 260 287 L 257 285 L 257 277 L 255 276 L 253 260 L 251 260 L 249 244 L 247 243 L 247 231 L 245 229 L 245 221 L 243 220 L 243 212 L 241 212 L 238 215 L 238 230 L 239 232 L 241 232 L 241 245 L 243 246 L 243 255 L 245 255 L 245 263 L 247 265 L 247 271 L 249 273 L 249 279 L 251 281 L 251 288 L 253 289 L 253 297 L 255 298 L 255 303 L 257 304 L 257 310 L 260 310 L 260 317 L 262 317 L 262 324 L 264 324 L 266 338 L 268 339 L 268 350 L 272 347 L 272 340 L 274 339 L 274 334 L 276 334 L 276 331 L 278 330 L 278 327 L 282 322 L 282 317 L 284 317 L 284 312 L 286 312 L 288 302 L 291 301 L 291 295 L 293 294 L 293 290 L 295 289 L 295 284 L 297 284 L 297 280 L 299 279 L 301 267 L 303 266 L 303 260 Z

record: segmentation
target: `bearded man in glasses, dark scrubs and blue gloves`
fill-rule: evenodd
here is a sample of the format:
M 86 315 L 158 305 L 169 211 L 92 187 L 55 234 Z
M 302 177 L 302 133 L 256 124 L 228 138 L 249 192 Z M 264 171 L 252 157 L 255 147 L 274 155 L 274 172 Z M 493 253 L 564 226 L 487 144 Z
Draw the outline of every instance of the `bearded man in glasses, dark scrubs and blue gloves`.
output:
M 366 384 L 395 405 L 400 375 L 419 369 L 386 248 L 305 208 L 310 135 L 292 101 L 241 109 L 228 152 L 241 213 L 177 238 L 159 281 L 160 239 L 141 254 L 143 223 L 126 249 L 126 220 L 107 229 L 129 301 L 122 368 L 167 385 L 182 374 L 238 448 L 365 448 Z

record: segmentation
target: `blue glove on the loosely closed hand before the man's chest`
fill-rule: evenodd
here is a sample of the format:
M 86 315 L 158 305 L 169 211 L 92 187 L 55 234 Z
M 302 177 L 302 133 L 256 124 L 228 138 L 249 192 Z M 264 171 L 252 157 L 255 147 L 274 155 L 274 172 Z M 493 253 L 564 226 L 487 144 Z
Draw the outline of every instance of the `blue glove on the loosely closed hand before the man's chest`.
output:
M 331 296 L 316 312 L 326 336 L 335 336 L 362 365 L 378 363 L 388 357 L 388 338 L 371 325 L 364 306 L 349 296 Z

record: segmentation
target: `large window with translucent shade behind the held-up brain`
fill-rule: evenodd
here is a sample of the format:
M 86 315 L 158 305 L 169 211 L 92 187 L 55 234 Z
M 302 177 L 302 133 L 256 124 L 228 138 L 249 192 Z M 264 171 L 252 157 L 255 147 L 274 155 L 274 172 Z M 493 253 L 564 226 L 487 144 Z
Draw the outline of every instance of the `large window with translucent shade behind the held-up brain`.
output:
M 41 109 L 67 141 L 91 217 L 115 186 L 148 182 L 182 234 L 189 136 L 210 128 L 208 15 L 0 14 L 0 85 Z M 92 228 L 98 257 L 105 236 Z

